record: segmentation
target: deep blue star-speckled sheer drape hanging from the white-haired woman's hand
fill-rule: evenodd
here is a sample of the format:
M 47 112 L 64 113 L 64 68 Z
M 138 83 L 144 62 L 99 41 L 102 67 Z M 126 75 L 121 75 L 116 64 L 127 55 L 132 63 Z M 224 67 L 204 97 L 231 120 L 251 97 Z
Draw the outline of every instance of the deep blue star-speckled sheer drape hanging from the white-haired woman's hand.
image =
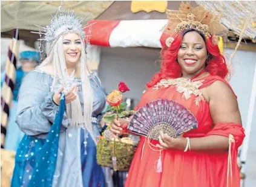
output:
M 65 112 L 65 97 L 46 139 L 25 135 L 15 157 L 11 187 L 52 185 L 57 162 L 59 135 Z

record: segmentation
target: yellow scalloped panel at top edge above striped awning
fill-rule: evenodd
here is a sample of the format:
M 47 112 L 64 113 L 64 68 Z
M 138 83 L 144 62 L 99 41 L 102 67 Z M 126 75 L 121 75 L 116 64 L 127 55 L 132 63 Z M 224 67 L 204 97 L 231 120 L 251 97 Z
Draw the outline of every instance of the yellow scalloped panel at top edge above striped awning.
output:
M 165 12 L 168 1 L 131 1 L 131 11 L 136 13 L 138 11 L 159 11 Z

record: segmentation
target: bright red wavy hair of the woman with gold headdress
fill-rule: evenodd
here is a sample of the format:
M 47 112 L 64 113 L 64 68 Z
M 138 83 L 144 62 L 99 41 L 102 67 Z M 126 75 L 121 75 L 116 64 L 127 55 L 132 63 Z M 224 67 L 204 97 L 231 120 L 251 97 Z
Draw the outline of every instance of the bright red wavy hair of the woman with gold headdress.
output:
M 146 83 L 147 87 L 156 85 L 160 80 L 164 78 L 182 77 L 182 68 L 177 62 L 177 54 L 180 49 L 180 45 L 182 44 L 183 36 L 190 31 L 196 31 L 200 34 L 200 36 L 203 37 L 203 40 L 205 41 L 206 49 L 208 52 L 208 65 L 206 65 L 206 71 L 208 71 L 211 75 L 218 75 L 222 78 L 227 77 L 229 71 L 226 65 L 225 57 L 220 54 L 218 45 L 214 45 L 212 43 L 212 37 L 206 38 L 205 35 L 200 31 L 189 29 L 174 36 L 174 41 L 169 48 L 166 45 L 163 46 L 160 52 L 162 55 L 160 72 L 156 73 L 151 81 Z

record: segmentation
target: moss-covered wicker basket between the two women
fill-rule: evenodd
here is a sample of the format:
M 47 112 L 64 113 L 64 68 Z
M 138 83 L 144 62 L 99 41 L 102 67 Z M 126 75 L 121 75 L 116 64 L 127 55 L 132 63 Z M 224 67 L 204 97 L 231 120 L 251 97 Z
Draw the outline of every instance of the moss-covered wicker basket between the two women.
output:
M 120 139 L 108 141 L 101 137 L 97 143 L 97 163 L 114 171 L 128 171 L 136 148 L 136 145 L 123 143 Z M 113 157 L 116 157 L 116 166 L 113 166 Z

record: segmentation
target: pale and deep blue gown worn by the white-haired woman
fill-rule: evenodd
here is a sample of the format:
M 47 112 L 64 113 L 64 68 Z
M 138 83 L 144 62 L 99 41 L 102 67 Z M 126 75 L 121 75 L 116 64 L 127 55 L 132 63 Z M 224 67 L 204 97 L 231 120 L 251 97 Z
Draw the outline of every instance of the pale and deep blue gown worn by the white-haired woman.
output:
M 87 130 L 69 126 L 66 113 L 61 115 L 60 107 L 53 103 L 52 81 L 51 75 L 32 71 L 22 83 L 16 122 L 26 135 L 16 153 L 11 186 L 112 186 L 110 170 L 97 164 L 93 141 L 100 135 L 99 121 L 107 108 L 99 77 L 94 73 L 90 76 L 94 90 L 94 137 Z M 80 83 L 80 78 L 76 78 L 76 83 Z M 83 106 L 80 86 L 77 95 Z

